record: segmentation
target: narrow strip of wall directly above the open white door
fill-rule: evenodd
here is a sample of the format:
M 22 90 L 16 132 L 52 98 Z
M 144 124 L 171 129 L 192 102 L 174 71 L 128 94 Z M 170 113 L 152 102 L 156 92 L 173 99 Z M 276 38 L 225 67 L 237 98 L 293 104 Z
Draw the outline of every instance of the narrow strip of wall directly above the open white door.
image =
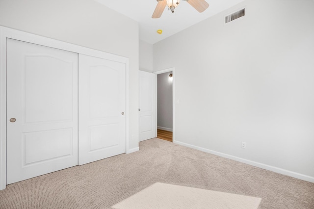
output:
M 139 70 L 153 72 L 153 45 L 139 40 Z

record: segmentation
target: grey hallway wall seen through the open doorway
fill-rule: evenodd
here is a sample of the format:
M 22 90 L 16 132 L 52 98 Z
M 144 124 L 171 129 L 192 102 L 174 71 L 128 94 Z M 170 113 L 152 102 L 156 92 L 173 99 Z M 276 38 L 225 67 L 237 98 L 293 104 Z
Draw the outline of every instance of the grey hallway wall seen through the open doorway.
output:
M 157 127 L 172 131 L 172 79 L 168 73 L 157 75 Z

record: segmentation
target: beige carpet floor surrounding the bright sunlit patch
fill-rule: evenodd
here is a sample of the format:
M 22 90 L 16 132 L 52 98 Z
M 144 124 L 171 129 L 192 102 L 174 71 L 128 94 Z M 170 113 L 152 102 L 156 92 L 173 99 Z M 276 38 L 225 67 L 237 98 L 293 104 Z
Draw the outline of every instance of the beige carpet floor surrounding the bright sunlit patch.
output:
M 161 139 L 109 157 L 7 186 L 1 209 L 106 209 L 154 183 L 262 198 L 259 209 L 314 209 L 314 183 Z

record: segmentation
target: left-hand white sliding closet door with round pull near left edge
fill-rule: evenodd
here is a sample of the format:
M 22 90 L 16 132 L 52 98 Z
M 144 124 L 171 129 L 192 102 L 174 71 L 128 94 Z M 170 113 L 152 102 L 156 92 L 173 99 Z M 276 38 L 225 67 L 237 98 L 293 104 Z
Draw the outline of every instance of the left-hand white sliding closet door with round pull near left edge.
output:
M 7 39 L 7 184 L 75 165 L 78 54 Z

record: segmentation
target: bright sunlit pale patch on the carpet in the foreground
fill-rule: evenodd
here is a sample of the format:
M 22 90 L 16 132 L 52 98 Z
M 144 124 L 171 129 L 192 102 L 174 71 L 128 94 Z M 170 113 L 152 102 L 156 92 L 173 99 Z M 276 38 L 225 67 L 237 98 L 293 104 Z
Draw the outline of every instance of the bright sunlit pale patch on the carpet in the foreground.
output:
M 261 198 L 154 183 L 112 209 L 257 209 Z

